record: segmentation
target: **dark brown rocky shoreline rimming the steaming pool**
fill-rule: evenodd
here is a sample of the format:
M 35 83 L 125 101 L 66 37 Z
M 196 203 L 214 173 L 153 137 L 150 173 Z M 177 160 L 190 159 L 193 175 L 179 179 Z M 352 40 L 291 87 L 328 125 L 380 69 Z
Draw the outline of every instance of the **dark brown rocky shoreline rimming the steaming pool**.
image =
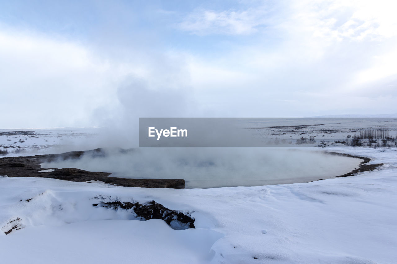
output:
M 342 175 L 331 176 L 318 180 L 341 178 L 357 175 L 360 172 L 372 171 L 379 166 L 384 165 L 383 163 L 368 164 L 371 159 L 368 157 L 356 156 L 346 153 L 339 153 L 333 151 L 322 151 L 322 153 L 328 155 L 337 155 L 343 157 L 351 157 L 361 159 L 358 168 L 351 170 Z M 55 159 L 80 159 L 83 154 L 91 154 L 93 157 L 104 155 L 102 149 L 93 149 L 88 151 L 70 151 L 60 154 L 48 154 L 48 155 L 35 155 L 27 157 L 4 157 L 0 159 L 0 175 L 8 177 L 37 177 L 37 178 L 54 178 L 58 180 L 68 180 L 71 182 L 88 182 L 88 181 L 100 181 L 115 186 L 125 187 L 147 187 L 147 188 L 174 188 L 184 189 L 184 179 L 152 179 L 152 178 L 118 178 L 109 177 L 110 172 L 92 172 L 88 170 L 80 170 L 77 168 L 45 168 L 54 169 L 54 171 L 40 172 L 44 168 L 41 168 L 40 163 L 52 161 Z M 310 180 L 308 182 L 315 182 L 318 180 Z M 303 181 L 301 183 L 304 183 Z M 299 183 L 299 182 L 293 182 Z M 279 184 L 292 184 L 291 182 L 279 183 Z M 276 185 L 276 184 L 264 184 L 264 185 Z M 264 186 L 258 185 L 258 186 Z M 223 186 L 228 187 L 228 186 Z M 230 186 L 229 186 L 230 187 Z M 233 186 L 236 187 L 236 186 Z M 210 187 L 216 188 L 216 187 Z M 207 188 L 204 188 L 207 189 Z

